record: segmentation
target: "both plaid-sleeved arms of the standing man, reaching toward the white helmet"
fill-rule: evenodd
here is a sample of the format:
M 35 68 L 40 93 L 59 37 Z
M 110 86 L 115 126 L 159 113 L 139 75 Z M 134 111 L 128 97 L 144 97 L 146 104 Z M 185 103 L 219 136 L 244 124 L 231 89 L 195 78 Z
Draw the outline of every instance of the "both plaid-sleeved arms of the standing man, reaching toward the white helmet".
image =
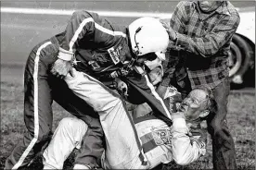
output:
M 190 8 L 189 8 L 190 7 Z M 176 6 L 173 16 L 170 21 L 170 31 L 176 32 L 175 44 L 184 48 L 186 51 L 210 57 L 215 55 L 223 45 L 229 41 L 237 30 L 240 22 L 238 13 L 232 12 L 230 15 L 225 15 L 215 28 L 207 32 L 202 37 L 189 37 L 185 32 L 186 22 L 189 20 L 189 12 L 192 4 L 189 2 L 181 2 Z M 172 37 L 170 37 L 172 40 Z

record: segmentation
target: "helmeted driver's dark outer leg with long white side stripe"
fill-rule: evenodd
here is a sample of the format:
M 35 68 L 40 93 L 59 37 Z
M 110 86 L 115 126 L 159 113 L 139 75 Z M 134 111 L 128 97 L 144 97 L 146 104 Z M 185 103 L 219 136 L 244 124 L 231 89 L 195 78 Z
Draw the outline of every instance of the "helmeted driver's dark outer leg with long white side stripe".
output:
M 24 74 L 24 121 L 27 132 L 6 159 L 6 169 L 18 169 L 29 164 L 48 140 L 53 119 L 52 98 L 45 79 L 47 67 L 42 61 L 57 52 L 55 45 L 45 41 L 38 44 L 28 58 Z

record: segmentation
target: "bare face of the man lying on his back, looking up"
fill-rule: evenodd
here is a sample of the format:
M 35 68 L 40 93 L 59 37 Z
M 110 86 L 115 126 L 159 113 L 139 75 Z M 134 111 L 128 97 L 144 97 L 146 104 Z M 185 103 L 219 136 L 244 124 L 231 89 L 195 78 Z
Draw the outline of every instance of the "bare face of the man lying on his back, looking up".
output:
M 193 90 L 181 103 L 179 111 L 184 112 L 187 120 L 195 120 L 207 109 L 209 102 L 208 92 Z

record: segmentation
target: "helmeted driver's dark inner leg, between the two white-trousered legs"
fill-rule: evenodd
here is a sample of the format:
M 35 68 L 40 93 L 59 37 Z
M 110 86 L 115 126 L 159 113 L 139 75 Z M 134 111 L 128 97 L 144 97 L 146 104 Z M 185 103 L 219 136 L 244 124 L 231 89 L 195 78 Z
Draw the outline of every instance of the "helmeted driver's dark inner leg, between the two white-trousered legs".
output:
M 94 109 L 70 91 L 63 79 L 50 76 L 54 100 L 70 114 L 82 119 L 88 126 L 82 147 L 78 151 L 74 164 L 100 166 L 100 157 L 104 151 L 104 133 L 99 116 Z

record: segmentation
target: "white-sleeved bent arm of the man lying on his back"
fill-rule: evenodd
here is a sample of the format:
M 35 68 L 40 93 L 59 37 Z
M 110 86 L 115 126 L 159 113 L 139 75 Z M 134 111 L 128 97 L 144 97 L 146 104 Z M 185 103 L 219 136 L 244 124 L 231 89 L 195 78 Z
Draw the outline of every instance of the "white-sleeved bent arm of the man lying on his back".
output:
M 184 115 L 174 114 L 172 117 L 173 160 L 176 164 L 181 165 L 197 161 L 206 152 L 206 139 L 203 140 L 201 136 L 190 137 Z

